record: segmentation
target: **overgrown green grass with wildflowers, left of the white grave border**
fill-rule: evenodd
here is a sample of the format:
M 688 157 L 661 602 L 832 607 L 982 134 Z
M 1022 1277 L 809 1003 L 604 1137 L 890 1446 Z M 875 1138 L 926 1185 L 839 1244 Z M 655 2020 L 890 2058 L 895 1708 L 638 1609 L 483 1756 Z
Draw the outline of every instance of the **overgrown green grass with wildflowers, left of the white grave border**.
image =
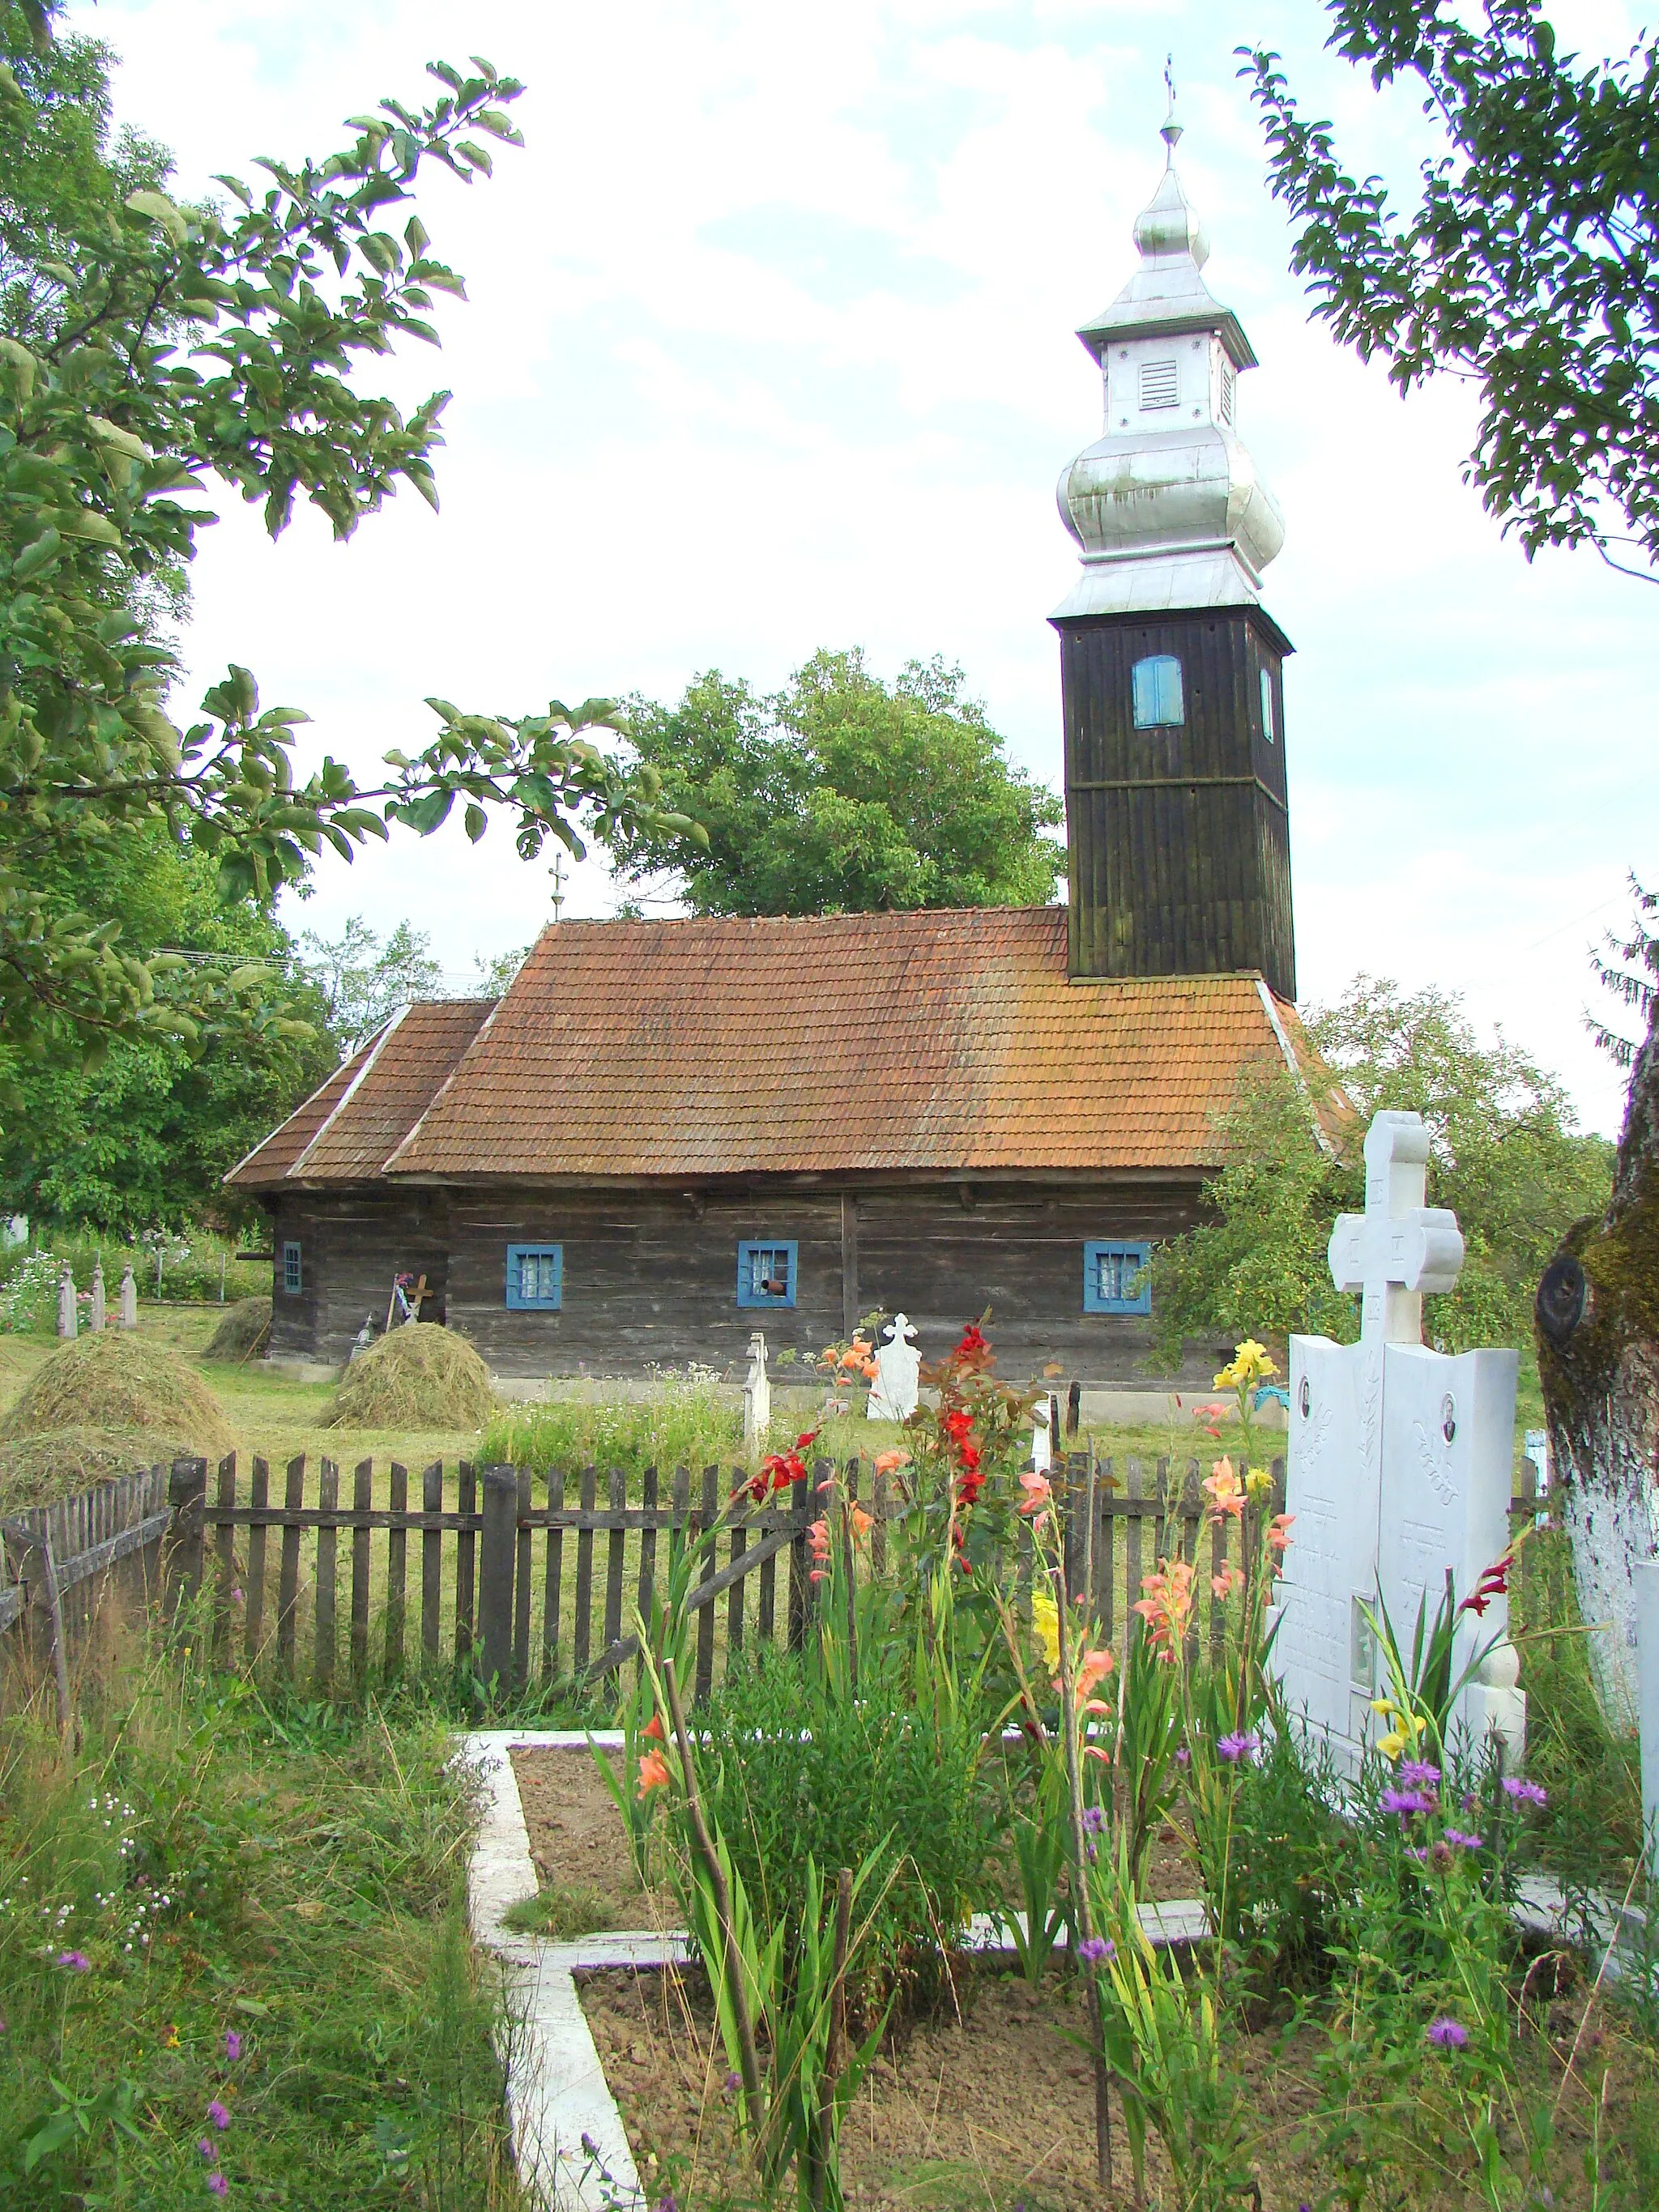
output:
M 4 2212 L 206 2205 L 210 2172 L 292 2212 L 520 2203 L 447 1752 L 429 1714 L 270 1708 L 159 1641 L 71 1759 L 4 1723 Z

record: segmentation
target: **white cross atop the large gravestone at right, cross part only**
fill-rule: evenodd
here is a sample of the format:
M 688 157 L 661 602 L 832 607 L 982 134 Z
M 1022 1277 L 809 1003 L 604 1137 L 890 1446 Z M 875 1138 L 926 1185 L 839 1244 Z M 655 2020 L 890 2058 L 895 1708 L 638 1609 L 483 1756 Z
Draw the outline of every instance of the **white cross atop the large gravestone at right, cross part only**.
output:
M 1429 1130 L 1416 1113 L 1380 1113 L 1365 1133 L 1365 1212 L 1338 1214 L 1332 1281 L 1363 1292 L 1363 1345 L 1420 1345 L 1422 1292 L 1462 1274 L 1462 1230 L 1444 1206 L 1425 1206 Z

